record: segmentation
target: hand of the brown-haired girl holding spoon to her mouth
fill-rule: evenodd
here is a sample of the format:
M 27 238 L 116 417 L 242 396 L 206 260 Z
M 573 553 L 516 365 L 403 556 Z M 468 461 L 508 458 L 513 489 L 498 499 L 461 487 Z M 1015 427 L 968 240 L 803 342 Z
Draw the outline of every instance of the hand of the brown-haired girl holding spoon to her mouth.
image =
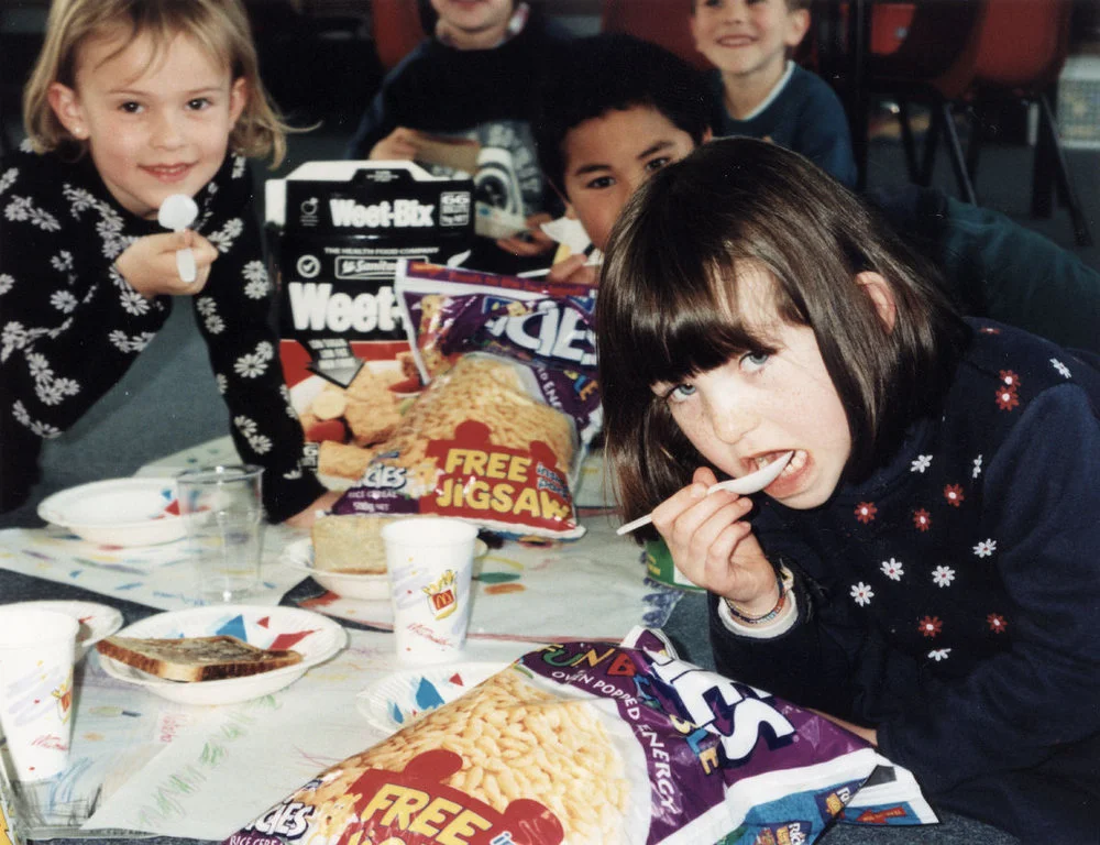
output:
M 710 469 L 695 470 L 691 484 L 653 509 L 653 526 L 688 580 L 763 615 L 779 601 L 779 586 L 752 526 L 743 522 L 752 501 L 724 490 L 707 495 L 717 481 Z

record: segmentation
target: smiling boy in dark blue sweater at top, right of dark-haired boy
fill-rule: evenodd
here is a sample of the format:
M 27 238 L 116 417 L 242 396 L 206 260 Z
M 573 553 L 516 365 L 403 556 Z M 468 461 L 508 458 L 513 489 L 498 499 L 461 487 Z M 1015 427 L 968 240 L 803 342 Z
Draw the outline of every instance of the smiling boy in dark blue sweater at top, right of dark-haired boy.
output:
M 810 0 L 692 0 L 695 47 L 717 68 L 708 80 L 714 133 L 771 141 L 855 187 L 840 100 L 790 58 L 809 29 Z

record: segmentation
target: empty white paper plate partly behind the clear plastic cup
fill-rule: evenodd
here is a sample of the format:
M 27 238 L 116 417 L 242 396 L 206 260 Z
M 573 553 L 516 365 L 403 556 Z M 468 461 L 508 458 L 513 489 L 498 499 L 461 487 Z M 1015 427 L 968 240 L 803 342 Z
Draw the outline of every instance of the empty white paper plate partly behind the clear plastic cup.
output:
M 111 479 L 55 493 L 38 516 L 103 546 L 156 546 L 184 536 L 175 479 Z

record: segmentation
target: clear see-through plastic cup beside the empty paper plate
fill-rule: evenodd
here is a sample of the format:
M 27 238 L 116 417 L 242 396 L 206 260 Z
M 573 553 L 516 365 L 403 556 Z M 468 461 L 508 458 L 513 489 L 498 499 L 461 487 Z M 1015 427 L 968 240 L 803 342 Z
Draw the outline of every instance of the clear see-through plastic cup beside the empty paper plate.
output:
M 238 603 L 260 589 L 263 468 L 208 467 L 176 476 L 179 515 L 195 559 L 196 592 L 206 604 Z

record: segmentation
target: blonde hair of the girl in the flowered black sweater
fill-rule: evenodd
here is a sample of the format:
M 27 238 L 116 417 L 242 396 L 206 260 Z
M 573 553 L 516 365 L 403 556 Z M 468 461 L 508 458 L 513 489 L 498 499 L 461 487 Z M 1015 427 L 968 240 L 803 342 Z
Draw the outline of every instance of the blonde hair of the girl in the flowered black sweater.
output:
M 244 79 L 246 101 L 230 133 L 230 149 L 249 157 L 270 157 L 272 166 L 278 166 L 286 155 L 289 128 L 260 80 L 252 30 L 240 0 L 53 0 L 45 43 L 23 90 L 23 125 L 37 152 L 61 147 L 77 155 L 86 152 L 87 143 L 74 138 L 50 106 L 50 86 L 76 88 L 81 45 L 120 26 L 129 33 L 119 52 L 147 35 L 152 64 L 176 35 L 186 35 L 228 67 L 232 79 Z

